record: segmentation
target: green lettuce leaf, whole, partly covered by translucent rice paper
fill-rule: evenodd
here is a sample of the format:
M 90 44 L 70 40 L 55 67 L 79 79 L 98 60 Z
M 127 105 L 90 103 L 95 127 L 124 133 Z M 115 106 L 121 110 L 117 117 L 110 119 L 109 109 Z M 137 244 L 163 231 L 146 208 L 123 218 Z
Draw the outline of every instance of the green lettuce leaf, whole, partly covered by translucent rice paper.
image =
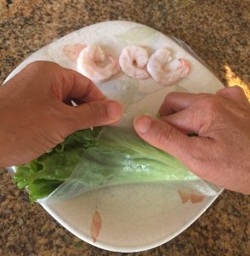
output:
M 131 129 L 100 131 L 77 131 L 50 153 L 18 167 L 18 187 L 26 187 L 31 201 L 36 201 L 65 181 L 63 193 L 73 185 L 78 195 L 110 185 L 197 179 L 179 160 L 145 143 Z

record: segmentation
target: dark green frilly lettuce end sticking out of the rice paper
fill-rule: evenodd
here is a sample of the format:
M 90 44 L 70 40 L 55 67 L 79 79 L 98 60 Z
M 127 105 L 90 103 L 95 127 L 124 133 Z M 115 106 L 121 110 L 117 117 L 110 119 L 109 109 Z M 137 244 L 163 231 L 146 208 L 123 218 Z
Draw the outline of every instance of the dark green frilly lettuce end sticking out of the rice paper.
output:
M 98 127 L 72 133 L 51 152 L 17 166 L 14 182 L 18 188 L 28 189 L 31 202 L 46 197 L 71 176 L 84 150 L 94 146 L 100 131 Z

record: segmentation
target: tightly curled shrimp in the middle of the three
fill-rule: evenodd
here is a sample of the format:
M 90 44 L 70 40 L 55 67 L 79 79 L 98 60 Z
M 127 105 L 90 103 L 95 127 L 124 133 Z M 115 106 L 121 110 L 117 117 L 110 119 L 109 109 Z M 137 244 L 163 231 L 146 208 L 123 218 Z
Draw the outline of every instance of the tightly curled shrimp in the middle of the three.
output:
M 122 71 L 134 79 L 148 79 L 150 77 L 145 68 L 148 61 L 149 55 L 146 49 L 136 45 L 128 45 L 122 49 L 119 57 Z

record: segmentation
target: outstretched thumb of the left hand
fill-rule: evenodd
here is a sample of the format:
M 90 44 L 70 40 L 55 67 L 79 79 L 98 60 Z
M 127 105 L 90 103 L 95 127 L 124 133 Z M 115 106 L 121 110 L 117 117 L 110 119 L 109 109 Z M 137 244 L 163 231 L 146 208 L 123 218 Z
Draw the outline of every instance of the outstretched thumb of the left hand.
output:
M 69 132 L 110 125 L 120 119 L 123 113 L 122 105 L 111 100 L 88 102 L 70 108 L 72 124 Z

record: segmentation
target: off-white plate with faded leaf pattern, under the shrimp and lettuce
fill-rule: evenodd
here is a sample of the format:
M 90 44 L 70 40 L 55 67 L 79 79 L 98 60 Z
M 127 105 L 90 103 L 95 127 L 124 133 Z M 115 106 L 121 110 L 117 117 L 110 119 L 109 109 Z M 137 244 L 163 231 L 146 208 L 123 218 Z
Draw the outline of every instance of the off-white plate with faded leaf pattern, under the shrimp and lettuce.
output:
M 182 57 L 190 61 L 188 77 L 164 89 L 152 79 L 138 81 L 122 73 L 105 84 L 98 84 L 107 96 L 123 102 L 128 112 L 136 113 L 144 109 L 156 113 L 170 91 L 213 93 L 224 87 L 207 67 L 171 38 L 150 27 L 128 21 L 107 21 L 72 32 L 32 54 L 14 69 L 8 79 L 31 61 L 37 60 L 55 61 L 63 67 L 77 69 L 76 63 L 69 61 L 63 53 L 64 45 L 77 43 L 99 44 L 116 57 L 128 44 L 143 45 L 150 52 L 167 46 L 172 50 L 174 59 Z M 173 61 L 171 65 L 176 63 Z M 134 96 L 134 90 L 139 90 L 140 94 Z M 127 94 L 130 96 L 124 97 Z M 98 189 L 54 205 L 42 201 L 41 205 L 83 241 L 111 251 L 138 252 L 157 247 L 179 235 L 206 211 L 217 196 L 205 196 L 203 201 L 196 203 L 190 200 L 183 203 L 178 191 L 164 184 L 126 185 Z M 91 236 L 93 216 L 97 225 L 101 218 L 96 241 Z

